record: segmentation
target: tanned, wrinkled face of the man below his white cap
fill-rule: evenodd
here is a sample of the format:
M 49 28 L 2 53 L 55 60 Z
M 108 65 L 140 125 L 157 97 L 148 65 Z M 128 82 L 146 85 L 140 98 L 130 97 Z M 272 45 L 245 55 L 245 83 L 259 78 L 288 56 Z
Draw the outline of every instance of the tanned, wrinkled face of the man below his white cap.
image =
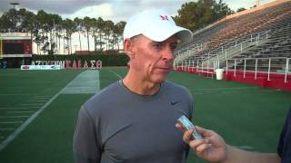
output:
M 144 35 L 138 35 L 132 42 L 135 57 L 130 61 L 130 69 L 139 72 L 139 77 L 145 82 L 164 82 L 166 75 L 173 69 L 176 37 L 154 42 Z

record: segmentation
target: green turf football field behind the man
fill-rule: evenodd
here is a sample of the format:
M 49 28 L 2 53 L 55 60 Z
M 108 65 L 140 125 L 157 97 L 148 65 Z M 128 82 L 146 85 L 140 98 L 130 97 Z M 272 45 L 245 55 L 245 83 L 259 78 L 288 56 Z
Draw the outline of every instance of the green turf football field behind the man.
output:
M 0 142 L 3 144 L 35 112 L 43 109 L 0 151 L 1 163 L 72 163 L 75 120 L 92 93 L 60 93 L 83 71 L 0 71 Z M 125 76 L 125 68 L 100 71 L 100 87 Z M 276 143 L 291 106 L 291 92 L 216 81 L 172 72 L 169 81 L 194 96 L 194 121 L 214 129 L 242 149 L 276 152 Z M 52 99 L 53 98 L 53 99 Z M 53 101 L 52 101 L 53 100 Z M 45 107 L 44 107 L 45 105 Z M 191 152 L 188 163 L 204 162 Z

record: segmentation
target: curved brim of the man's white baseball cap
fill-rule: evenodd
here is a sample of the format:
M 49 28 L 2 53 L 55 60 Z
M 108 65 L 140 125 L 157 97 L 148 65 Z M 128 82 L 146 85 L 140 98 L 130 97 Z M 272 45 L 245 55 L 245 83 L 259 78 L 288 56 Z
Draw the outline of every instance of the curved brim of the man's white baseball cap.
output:
M 144 32 L 143 34 L 147 38 L 155 42 L 163 42 L 175 34 L 177 36 L 177 39 L 179 39 L 182 43 L 190 42 L 193 37 L 190 30 L 176 25 L 167 26 L 166 29 L 156 29 L 155 26 L 149 26 L 148 28 L 146 28 L 146 32 Z

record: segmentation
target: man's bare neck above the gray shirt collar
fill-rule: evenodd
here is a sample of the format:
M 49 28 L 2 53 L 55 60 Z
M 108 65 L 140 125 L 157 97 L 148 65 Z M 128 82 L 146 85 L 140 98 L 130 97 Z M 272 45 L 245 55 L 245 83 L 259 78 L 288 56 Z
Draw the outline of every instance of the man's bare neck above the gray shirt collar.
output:
M 127 89 L 140 95 L 153 95 L 160 90 L 160 83 L 147 82 L 145 79 L 133 77 L 133 74 L 127 73 L 123 83 Z

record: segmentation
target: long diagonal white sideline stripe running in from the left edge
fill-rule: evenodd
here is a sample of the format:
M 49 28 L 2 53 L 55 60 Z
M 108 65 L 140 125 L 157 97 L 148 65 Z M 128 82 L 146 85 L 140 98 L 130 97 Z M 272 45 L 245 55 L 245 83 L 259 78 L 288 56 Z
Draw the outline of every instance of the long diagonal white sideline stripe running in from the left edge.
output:
M 87 71 L 87 72 L 89 72 L 89 71 Z M 82 72 L 82 73 L 80 73 L 78 76 L 76 76 L 76 78 L 75 79 L 77 79 L 77 78 L 79 78 L 79 76 L 81 76 L 81 75 L 84 75 L 83 73 L 85 73 L 85 72 Z M 98 73 L 98 82 L 99 82 L 99 72 L 97 72 Z M 75 79 L 74 80 L 72 80 L 71 82 L 69 82 L 66 86 L 65 86 L 65 88 L 68 86 L 68 85 L 72 85 L 72 82 L 74 82 L 75 81 Z M 32 116 L 30 116 L 29 117 L 29 119 L 28 120 L 25 120 L 25 122 L 19 127 L 19 128 L 17 128 L 17 129 L 15 129 L 15 131 L 13 132 L 13 133 L 11 133 L 4 141 L 2 141 L 1 142 L 1 144 L 0 144 L 0 151 L 2 150 L 2 149 L 5 149 L 5 147 L 10 143 L 10 142 L 12 142 L 16 137 L 17 137 L 17 135 L 19 135 L 19 133 L 22 131 L 22 130 L 24 130 L 28 125 L 29 125 L 29 123 L 31 123 L 33 120 L 35 120 L 35 118 L 43 111 L 43 110 L 45 110 L 45 108 L 49 105 L 49 104 L 51 104 L 53 101 L 55 101 L 55 99 L 57 98 L 57 96 L 58 95 L 60 95 L 61 94 L 61 92 L 63 92 L 64 90 L 65 90 L 65 88 L 63 88 L 61 91 L 59 91 L 59 92 L 57 92 L 49 101 L 47 101 L 47 102 L 45 102 L 45 105 L 43 105 L 39 110 L 37 110 L 37 111 L 35 111 L 35 113 L 32 115 Z M 100 88 L 100 87 L 99 87 Z M 46 96 L 47 97 L 47 96 Z

